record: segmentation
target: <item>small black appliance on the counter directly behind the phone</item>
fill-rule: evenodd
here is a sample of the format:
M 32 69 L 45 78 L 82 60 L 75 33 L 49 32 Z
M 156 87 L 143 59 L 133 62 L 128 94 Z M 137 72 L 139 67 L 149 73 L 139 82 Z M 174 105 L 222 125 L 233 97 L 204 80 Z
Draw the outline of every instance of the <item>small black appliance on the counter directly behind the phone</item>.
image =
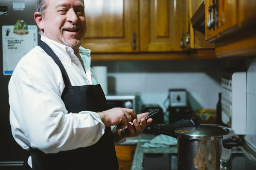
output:
M 164 116 L 163 116 L 163 109 L 159 106 L 159 105 L 143 105 L 142 107 L 142 113 L 145 112 L 151 112 L 154 111 L 155 109 L 159 109 L 159 113 L 154 114 L 152 116 L 153 122 L 148 125 L 145 130 L 143 131 L 144 133 L 153 133 L 153 129 L 155 126 L 157 126 L 158 124 L 163 124 L 164 123 Z

